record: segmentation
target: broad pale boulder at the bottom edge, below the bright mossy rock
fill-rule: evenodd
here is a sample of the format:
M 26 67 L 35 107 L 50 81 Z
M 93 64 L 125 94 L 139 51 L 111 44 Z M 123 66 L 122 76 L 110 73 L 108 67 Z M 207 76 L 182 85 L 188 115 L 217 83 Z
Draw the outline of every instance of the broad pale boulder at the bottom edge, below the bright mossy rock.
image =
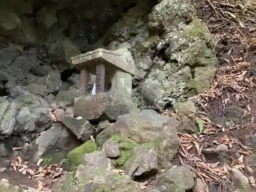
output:
M 74 179 L 73 179 L 74 178 Z M 111 164 L 111 160 L 105 157 L 103 152 L 93 152 L 82 156 L 82 164 L 76 173 L 65 173 L 62 178 L 54 183 L 53 192 L 62 191 L 134 191 L 139 192 L 137 183 L 119 175 Z

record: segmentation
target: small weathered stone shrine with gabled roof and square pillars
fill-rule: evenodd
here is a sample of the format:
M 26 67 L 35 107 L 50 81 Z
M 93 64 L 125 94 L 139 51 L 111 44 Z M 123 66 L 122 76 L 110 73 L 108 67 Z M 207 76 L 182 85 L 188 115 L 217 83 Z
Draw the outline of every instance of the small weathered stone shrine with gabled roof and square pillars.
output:
M 112 51 L 96 49 L 71 60 L 81 70 L 83 95 L 74 100 L 75 115 L 95 121 L 116 120 L 119 115 L 137 109 L 131 100 L 132 75 L 136 68 L 129 45 Z M 89 73 L 96 75 L 96 94 L 87 96 Z

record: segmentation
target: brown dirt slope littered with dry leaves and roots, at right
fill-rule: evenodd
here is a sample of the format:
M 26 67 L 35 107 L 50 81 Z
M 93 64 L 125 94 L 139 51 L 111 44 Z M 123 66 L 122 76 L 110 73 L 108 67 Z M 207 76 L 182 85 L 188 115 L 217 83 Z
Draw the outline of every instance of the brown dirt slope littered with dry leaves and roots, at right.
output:
M 256 178 L 255 152 L 248 147 L 256 133 L 256 6 L 232 0 L 195 0 L 194 4 L 198 17 L 215 37 L 219 66 L 210 89 L 199 95 L 202 113 L 193 116 L 203 122 L 202 133 L 180 134 L 182 148 L 176 162 L 194 169 L 208 191 L 231 192 L 236 183 L 226 174 L 227 167 L 239 169 L 252 185 Z M 227 126 L 224 119 L 230 106 L 246 113 Z M 228 146 L 223 153 L 203 153 L 221 144 Z

